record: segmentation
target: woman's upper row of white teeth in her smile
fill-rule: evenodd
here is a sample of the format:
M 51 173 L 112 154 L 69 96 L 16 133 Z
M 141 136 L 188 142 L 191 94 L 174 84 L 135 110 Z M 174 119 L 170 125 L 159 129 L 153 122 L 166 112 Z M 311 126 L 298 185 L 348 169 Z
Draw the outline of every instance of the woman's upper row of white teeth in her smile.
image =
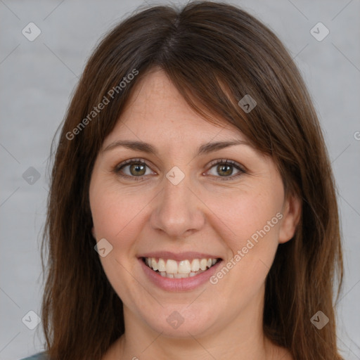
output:
M 217 262 L 217 259 L 193 259 L 181 260 L 176 262 L 173 259 L 159 258 L 156 261 L 155 257 L 146 257 L 145 263 L 153 270 L 160 272 L 166 272 L 167 274 L 190 274 L 199 270 L 206 270 Z

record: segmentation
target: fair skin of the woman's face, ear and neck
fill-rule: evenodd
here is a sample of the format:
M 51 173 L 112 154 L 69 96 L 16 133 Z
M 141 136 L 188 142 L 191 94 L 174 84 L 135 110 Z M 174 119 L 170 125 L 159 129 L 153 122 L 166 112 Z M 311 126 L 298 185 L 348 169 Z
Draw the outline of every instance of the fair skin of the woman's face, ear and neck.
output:
M 94 237 L 113 246 L 101 264 L 124 304 L 125 334 L 103 360 L 292 359 L 262 330 L 266 275 L 300 215 L 274 162 L 245 143 L 197 154 L 206 143 L 246 139 L 191 110 L 162 70 L 141 80 L 120 120 L 98 153 L 89 189 Z M 125 140 L 150 143 L 158 153 L 114 145 Z M 141 164 L 114 171 L 130 159 L 145 161 L 146 172 Z M 210 164 L 226 159 L 245 172 L 230 165 L 224 174 Z M 174 166 L 184 174 L 176 185 L 166 177 Z M 214 255 L 221 269 L 278 213 L 281 220 L 216 284 L 165 290 L 143 270 L 139 256 L 160 251 Z M 177 328 L 167 321 L 174 311 L 184 319 Z

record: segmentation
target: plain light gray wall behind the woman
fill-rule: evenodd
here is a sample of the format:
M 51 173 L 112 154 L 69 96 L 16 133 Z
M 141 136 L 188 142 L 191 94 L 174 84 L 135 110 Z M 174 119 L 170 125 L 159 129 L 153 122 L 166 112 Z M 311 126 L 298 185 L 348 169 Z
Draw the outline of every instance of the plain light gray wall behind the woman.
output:
M 229 2 L 276 32 L 314 99 L 338 184 L 344 237 L 345 287 L 336 307 L 338 346 L 345 359 L 360 359 L 360 1 Z M 30 330 L 22 319 L 40 309 L 39 243 L 51 140 L 99 37 L 141 4 L 0 0 L 0 359 L 20 359 L 42 349 L 41 325 Z M 22 34 L 30 22 L 41 30 L 34 41 Z M 310 33 L 319 22 L 330 30 L 323 41 Z M 29 167 L 40 174 L 34 184 L 23 178 Z

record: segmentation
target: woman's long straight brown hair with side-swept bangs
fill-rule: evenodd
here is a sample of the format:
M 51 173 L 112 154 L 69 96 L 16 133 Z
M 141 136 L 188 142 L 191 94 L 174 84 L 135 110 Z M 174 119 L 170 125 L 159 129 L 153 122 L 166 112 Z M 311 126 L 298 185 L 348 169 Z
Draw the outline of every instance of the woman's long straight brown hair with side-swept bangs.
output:
M 206 120 L 234 124 L 270 155 L 286 192 L 302 200 L 295 236 L 278 246 L 266 278 L 264 333 L 294 359 L 341 359 L 333 310 L 333 284 L 338 281 L 339 295 L 342 283 L 338 205 L 316 112 L 276 35 L 245 11 L 211 1 L 131 15 L 84 69 L 58 139 L 42 243 L 49 356 L 101 359 L 124 333 L 122 301 L 94 250 L 89 181 L 131 89 L 156 66 Z M 136 76 L 120 85 L 131 73 Z M 250 113 L 238 105 L 247 94 L 257 102 Z M 105 98 L 103 110 L 92 113 Z M 321 330 L 310 321 L 319 310 L 329 319 Z

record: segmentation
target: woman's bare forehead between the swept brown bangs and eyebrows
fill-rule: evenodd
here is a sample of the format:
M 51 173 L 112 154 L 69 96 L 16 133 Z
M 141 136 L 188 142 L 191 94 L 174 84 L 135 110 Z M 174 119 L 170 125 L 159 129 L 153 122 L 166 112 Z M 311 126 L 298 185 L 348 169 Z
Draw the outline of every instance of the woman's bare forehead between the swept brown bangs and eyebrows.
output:
M 136 84 L 113 131 L 104 141 L 133 139 L 185 144 L 206 141 L 246 140 L 225 120 L 212 124 L 195 113 L 163 70 L 148 73 Z

